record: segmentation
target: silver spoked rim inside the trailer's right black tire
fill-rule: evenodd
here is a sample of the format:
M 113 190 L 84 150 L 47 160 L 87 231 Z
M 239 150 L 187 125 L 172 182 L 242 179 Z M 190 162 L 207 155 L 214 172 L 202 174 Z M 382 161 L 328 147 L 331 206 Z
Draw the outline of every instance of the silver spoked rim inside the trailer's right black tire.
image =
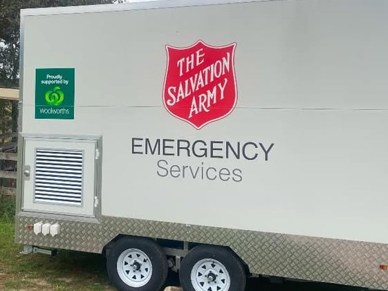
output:
M 191 280 L 196 291 L 228 291 L 230 287 L 228 270 L 214 259 L 198 261 L 192 268 Z

